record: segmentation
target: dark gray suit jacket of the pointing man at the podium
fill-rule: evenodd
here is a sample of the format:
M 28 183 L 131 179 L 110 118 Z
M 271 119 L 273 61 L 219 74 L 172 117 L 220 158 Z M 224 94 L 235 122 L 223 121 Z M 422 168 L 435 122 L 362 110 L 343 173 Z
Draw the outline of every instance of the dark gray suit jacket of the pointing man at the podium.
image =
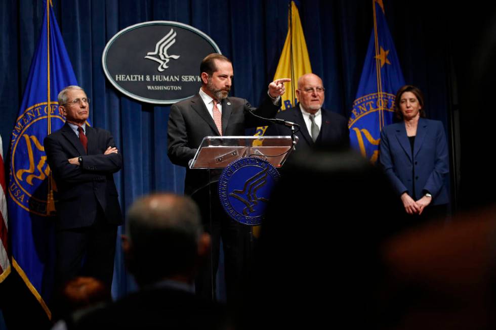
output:
M 279 107 L 280 105 L 274 105 L 269 97 L 258 109 L 253 108 L 244 99 L 226 98 L 222 100 L 222 135 L 245 135 L 245 128 L 267 124 L 247 113 L 249 110 L 259 116 L 273 118 Z M 167 131 L 168 155 L 173 164 L 186 167 L 186 194 L 192 195 L 210 182 L 218 180 L 218 173 L 213 173 L 209 178 L 208 171 L 190 170 L 188 162 L 193 159 L 203 137 L 219 135 L 214 119 L 206 110 L 199 94 L 171 107 Z

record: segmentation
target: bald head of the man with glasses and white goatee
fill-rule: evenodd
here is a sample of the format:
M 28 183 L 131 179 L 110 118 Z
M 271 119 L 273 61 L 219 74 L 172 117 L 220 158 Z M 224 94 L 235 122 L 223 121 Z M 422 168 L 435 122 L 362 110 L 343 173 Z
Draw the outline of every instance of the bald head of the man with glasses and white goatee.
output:
M 322 79 L 313 73 L 307 73 L 298 78 L 296 96 L 303 110 L 316 113 L 324 103 L 324 86 Z

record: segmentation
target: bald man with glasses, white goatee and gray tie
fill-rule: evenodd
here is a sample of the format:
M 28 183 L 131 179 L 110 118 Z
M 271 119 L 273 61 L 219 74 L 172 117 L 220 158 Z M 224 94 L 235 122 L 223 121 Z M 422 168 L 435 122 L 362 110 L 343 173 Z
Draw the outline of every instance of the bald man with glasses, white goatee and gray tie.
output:
M 346 148 L 350 145 L 346 118 L 322 109 L 324 90 L 319 76 L 313 73 L 304 74 L 298 79 L 296 107 L 280 111 L 276 116 L 300 125 L 300 131 L 296 134 L 299 137 L 297 150 L 313 146 Z M 283 125 L 271 125 L 265 135 L 291 135 L 291 129 Z

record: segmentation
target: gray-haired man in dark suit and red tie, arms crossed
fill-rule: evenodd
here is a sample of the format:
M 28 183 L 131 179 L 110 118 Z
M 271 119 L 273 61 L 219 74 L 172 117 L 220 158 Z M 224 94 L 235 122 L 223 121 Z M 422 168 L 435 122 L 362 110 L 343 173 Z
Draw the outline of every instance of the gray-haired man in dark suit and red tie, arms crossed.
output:
M 57 188 L 55 285 L 86 275 L 110 290 L 122 223 L 113 173 L 122 158 L 109 131 L 86 123 L 90 99 L 81 87 L 65 87 L 58 101 L 66 122 L 44 141 Z

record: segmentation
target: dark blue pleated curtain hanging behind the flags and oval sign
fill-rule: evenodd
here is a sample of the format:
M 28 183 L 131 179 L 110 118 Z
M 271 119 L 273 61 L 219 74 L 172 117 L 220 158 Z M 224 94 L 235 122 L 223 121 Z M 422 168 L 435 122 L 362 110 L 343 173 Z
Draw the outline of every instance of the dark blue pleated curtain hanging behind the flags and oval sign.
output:
M 405 81 L 426 96 L 430 118 L 450 127 L 449 67 L 451 22 L 441 5 L 384 1 Z M 428 5 L 429 4 L 429 5 Z M 124 159 L 115 174 L 123 211 L 154 191 L 182 193 L 184 168 L 167 157 L 170 107 L 131 100 L 106 80 L 101 56 L 119 30 L 152 20 L 189 24 L 210 35 L 233 61 L 231 95 L 257 105 L 272 81 L 287 33 L 287 0 L 53 0 L 56 17 L 79 85 L 92 99 L 90 118 L 110 130 Z M 348 117 L 355 99 L 365 51 L 373 28 L 371 0 L 299 2 L 313 72 L 326 88 L 324 107 Z M 4 155 L 22 98 L 43 17 L 43 1 L 0 4 L 0 133 Z M 7 160 L 8 161 L 8 160 Z M 120 229 L 123 232 L 123 229 Z M 132 285 L 116 255 L 113 292 Z M 1 298 L 0 298 L 1 299 Z

